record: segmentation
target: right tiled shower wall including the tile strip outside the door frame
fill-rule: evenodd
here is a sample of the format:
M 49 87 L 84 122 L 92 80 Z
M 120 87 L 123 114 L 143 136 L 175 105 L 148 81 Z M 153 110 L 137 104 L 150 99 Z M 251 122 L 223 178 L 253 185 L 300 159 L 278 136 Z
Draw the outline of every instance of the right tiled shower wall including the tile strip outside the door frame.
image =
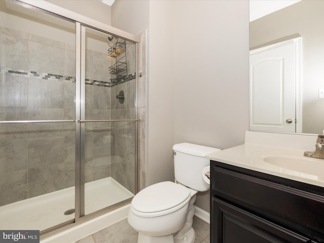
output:
M 140 34 L 138 78 L 138 190 L 146 187 L 146 32 Z M 135 45 L 127 49 L 127 60 L 136 60 Z M 128 73 L 135 73 L 136 66 L 128 62 Z M 111 118 L 135 118 L 135 79 L 111 88 Z M 120 104 L 114 97 L 124 90 L 126 100 Z M 113 123 L 111 130 L 111 177 L 134 193 L 135 123 Z

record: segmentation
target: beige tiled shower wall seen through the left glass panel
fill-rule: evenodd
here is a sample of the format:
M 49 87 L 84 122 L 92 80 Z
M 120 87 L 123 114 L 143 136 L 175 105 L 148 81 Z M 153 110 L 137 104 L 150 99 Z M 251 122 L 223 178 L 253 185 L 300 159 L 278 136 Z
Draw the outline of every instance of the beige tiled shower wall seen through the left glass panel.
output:
M 0 27 L 0 119 L 73 119 L 74 47 Z M 74 185 L 74 123 L 2 124 L 0 205 Z

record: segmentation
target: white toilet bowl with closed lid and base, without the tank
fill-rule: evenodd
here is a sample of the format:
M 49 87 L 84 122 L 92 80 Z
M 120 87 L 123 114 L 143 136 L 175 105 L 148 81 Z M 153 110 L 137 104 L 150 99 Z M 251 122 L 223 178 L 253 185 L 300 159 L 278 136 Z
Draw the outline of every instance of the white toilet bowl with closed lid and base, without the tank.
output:
M 190 205 L 194 210 L 196 193 L 196 190 L 171 181 L 156 183 L 140 191 L 128 214 L 128 222 L 139 232 L 138 242 L 191 242 L 174 241 L 173 234 L 185 225 Z M 148 197 L 152 199 L 147 200 Z M 193 242 L 194 234 L 192 236 Z

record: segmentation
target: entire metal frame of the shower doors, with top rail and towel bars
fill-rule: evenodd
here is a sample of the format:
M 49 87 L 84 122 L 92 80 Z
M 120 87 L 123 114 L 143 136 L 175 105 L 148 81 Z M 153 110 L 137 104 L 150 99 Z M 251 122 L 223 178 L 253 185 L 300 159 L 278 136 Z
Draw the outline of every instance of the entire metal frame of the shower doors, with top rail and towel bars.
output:
M 139 48 L 140 36 L 133 35 L 126 31 L 114 28 L 99 21 L 90 19 L 83 15 L 74 13 L 62 7 L 56 6 L 45 1 L 36 0 L 9 0 L 23 7 L 31 8 L 36 11 L 41 11 L 58 18 L 66 19 L 75 23 L 75 119 L 74 120 L 4 120 L 0 124 L 17 124 L 17 123 L 75 123 L 75 219 L 64 222 L 60 225 L 43 230 L 41 235 L 53 232 L 71 223 L 79 223 L 98 213 L 105 213 L 114 210 L 119 205 L 125 204 L 125 201 L 117 203 L 113 206 L 101 209 L 89 215 L 85 215 L 85 180 L 84 180 L 84 125 L 87 122 L 118 122 L 118 121 L 135 121 L 135 194 L 138 192 L 138 77 L 139 77 Z M 136 44 L 136 90 L 135 90 L 135 119 L 107 119 L 107 120 L 86 120 L 85 119 L 85 42 L 82 42 L 85 35 L 85 27 L 90 27 L 98 31 L 113 34 L 117 37 L 124 38 Z M 126 201 L 130 201 L 127 199 Z

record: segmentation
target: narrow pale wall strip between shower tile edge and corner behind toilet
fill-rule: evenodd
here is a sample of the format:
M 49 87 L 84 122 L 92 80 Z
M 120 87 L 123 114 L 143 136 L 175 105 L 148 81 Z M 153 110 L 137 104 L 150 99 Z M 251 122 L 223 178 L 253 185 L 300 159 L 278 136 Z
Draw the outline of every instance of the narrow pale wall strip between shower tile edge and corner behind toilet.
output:
M 148 184 L 174 181 L 174 1 L 150 1 Z

